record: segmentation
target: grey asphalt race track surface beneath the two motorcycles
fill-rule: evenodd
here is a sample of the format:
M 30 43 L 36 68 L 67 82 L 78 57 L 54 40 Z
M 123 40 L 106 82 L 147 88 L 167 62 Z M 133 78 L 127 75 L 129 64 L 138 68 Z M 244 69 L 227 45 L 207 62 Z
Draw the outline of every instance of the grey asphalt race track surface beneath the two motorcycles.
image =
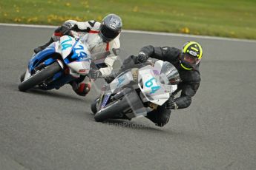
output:
M 19 92 L 33 48 L 52 28 L 0 26 L 0 169 L 255 169 L 256 41 L 122 33 L 122 58 L 147 44 L 203 44 L 202 83 L 159 128 L 146 118 L 96 123 L 70 86 Z

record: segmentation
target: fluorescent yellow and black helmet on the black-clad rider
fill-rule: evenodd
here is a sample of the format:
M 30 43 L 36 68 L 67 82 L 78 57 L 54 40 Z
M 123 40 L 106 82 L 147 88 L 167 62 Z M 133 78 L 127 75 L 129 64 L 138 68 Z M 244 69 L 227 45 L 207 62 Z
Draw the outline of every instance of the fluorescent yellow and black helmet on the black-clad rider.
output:
M 202 56 L 201 45 L 195 41 L 188 41 L 183 45 L 183 50 L 180 54 L 180 66 L 183 69 L 191 70 L 200 63 Z

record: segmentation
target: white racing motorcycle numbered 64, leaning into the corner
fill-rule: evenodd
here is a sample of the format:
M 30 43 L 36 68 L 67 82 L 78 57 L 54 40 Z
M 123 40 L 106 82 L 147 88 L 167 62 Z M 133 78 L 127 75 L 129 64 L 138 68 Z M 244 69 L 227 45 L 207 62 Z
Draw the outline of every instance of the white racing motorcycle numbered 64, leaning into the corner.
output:
M 102 87 L 91 110 L 96 121 L 146 116 L 170 98 L 179 82 L 179 73 L 169 62 L 136 64 Z

